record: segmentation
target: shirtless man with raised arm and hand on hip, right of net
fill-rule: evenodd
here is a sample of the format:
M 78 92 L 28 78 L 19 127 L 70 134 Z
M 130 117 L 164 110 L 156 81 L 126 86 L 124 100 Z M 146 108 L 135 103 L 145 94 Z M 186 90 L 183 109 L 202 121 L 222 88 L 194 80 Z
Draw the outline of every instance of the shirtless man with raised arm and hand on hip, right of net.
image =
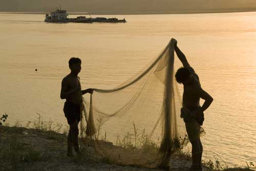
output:
M 190 67 L 185 55 L 180 51 L 175 43 L 175 52 L 183 64 L 183 67 L 176 72 L 176 80 L 183 84 L 183 108 L 181 108 L 181 117 L 184 119 L 186 131 L 190 143 L 192 144 L 192 166 L 190 170 L 202 170 L 201 160 L 203 146 L 200 140 L 200 125 L 203 125 L 203 112 L 209 107 L 214 100 L 207 92 L 201 88 L 198 75 Z M 204 103 L 200 106 L 200 98 Z

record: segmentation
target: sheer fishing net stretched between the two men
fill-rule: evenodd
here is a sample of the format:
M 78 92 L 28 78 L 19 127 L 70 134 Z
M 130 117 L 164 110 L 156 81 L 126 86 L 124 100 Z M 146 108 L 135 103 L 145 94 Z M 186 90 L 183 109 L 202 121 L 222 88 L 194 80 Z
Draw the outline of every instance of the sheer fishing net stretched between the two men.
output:
M 104 155 L 121 164 L 166 166 L 185 138 L 181 96 L 175 81 L 174 42 L 150 65 L 112 90 L 83 98 L 82 136 L 97 140 Z M 86 124 L 87 123 L 87 124 Z M 106 143 L 108 141 L 109 143 Z

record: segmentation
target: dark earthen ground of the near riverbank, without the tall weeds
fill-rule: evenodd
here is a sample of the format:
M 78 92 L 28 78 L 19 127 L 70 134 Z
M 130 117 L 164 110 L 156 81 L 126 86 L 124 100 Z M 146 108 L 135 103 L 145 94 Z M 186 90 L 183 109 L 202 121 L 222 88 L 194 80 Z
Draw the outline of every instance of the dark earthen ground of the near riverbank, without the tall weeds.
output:
M 0 126 L 0 170 L 161 170 L 120 164 L 108 155 L 97 153 L 90 141 L 81 141 L 82 155 L 67 157 L 67 135 L 42 129 L 28 129 L 16 126 Z M 112 143 L 112 151 L 120 148 Z M 205 163 L 207 164 L 207 163 Z M 191 165 L 189 155 L 173 156 L 171 170 L 188 170 Z M 216 163 L 208 163 L 204 170 L 221 170 Z M 250 170 L 249 168 L 229 168 L 223 170 Z

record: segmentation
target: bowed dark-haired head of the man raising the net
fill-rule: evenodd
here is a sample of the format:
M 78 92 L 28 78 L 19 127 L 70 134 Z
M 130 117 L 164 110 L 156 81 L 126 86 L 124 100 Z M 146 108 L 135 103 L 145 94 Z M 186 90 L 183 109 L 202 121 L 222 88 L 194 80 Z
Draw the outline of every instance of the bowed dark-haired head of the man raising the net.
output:
M 178 71 L 175 74 L 175 77 L 176 81 L 182 83 L 183 85 L 190 84 L 193 81 L 190 71 L 184 67 L 178 69 Z

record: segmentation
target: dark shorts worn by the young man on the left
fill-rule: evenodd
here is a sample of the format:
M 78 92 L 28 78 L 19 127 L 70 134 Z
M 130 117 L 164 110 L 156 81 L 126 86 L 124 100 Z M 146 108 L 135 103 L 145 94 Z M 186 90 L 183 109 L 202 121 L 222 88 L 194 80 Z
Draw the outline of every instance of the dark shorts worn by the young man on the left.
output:
M 69 124 L 74 123 L 76 120 L 77 123 L 80 121 L 80 110 L 80 104 L 75 104 L 70 101 L 65 102 L 63 111 Z

